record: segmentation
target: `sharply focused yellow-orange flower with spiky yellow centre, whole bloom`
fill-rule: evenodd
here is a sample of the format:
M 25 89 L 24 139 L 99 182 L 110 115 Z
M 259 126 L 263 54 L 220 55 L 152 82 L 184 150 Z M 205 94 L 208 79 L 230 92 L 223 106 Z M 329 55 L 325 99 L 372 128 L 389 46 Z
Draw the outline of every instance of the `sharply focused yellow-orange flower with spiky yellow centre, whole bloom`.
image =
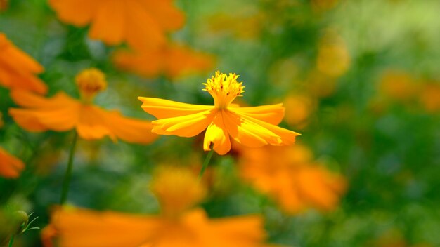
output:
M 264 145 L 292 145 L 299 135 L 280 128 L 284 116 L 282 104 L 259 107 L 238 107 L 231 104 L 244 92 L 242 82 L 236 74 L 216 72 L 207 79 L 204 91 L 214 98 L 214 106 L 190 105 L 159 98 L 138 99 L 143 102 L 145 112 L 158 120 L 152 121 L 153 132 L 160 135 L 192 137 L 206 129 L 203 149 L 213 149 L 218 154 L 226 154 L 233 140 L 247 147 Z

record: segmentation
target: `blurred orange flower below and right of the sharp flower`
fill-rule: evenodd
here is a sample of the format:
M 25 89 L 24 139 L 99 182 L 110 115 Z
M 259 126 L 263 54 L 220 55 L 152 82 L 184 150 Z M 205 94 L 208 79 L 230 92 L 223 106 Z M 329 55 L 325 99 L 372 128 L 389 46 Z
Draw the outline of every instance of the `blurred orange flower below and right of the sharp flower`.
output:
M 330 211 L 347 187 L 340 175 L 313 165 L 311 151 L 302 145 L 239 150 L 240 176 L 287 213 L 309 207 Z

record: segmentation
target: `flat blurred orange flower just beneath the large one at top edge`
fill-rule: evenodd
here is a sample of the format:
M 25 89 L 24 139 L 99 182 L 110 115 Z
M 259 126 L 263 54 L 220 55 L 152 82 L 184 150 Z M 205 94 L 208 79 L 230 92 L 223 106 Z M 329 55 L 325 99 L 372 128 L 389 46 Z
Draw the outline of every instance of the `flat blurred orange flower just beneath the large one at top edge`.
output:
M 113 61 L 117 67 L 141 76 L 153 77 L 163 73 L 169 78 L 207 70 L 213 64 L 211 56 L 178 45 L 138 53 L 117 51 Z

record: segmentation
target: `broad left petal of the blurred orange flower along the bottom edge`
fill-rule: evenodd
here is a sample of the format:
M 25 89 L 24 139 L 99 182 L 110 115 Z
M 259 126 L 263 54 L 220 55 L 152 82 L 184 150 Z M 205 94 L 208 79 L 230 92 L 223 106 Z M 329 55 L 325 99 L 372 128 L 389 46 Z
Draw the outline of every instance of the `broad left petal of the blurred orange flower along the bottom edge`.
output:
M 160 224 L 155 217 L 60 208 L 52 215 L 60 246 L 141 246 Z M 111 237 L 109 237 L 111 236 Z

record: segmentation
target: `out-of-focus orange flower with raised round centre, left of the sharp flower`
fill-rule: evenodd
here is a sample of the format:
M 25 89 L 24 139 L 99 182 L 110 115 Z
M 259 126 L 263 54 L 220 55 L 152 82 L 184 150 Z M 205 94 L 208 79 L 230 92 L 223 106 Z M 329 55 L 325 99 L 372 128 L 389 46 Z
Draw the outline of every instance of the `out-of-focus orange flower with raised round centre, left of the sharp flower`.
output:
M 52 98 L 44 98 L 27 91 L 13 91 L 11 97 L 22 108 L 11 108 L 9 114 L 27 131 L 69 131 L 75 128 L 86 140 L 100 139 L 108 135 L 112 140 L 147 144 L 156 135 L 148 121 L 127 118 L 118 111 L 106 111 L 93 105 L 93 98 L 107 83 L 98 69 L 86 69 L 76 77 L 81 100 L 63 92 Z

